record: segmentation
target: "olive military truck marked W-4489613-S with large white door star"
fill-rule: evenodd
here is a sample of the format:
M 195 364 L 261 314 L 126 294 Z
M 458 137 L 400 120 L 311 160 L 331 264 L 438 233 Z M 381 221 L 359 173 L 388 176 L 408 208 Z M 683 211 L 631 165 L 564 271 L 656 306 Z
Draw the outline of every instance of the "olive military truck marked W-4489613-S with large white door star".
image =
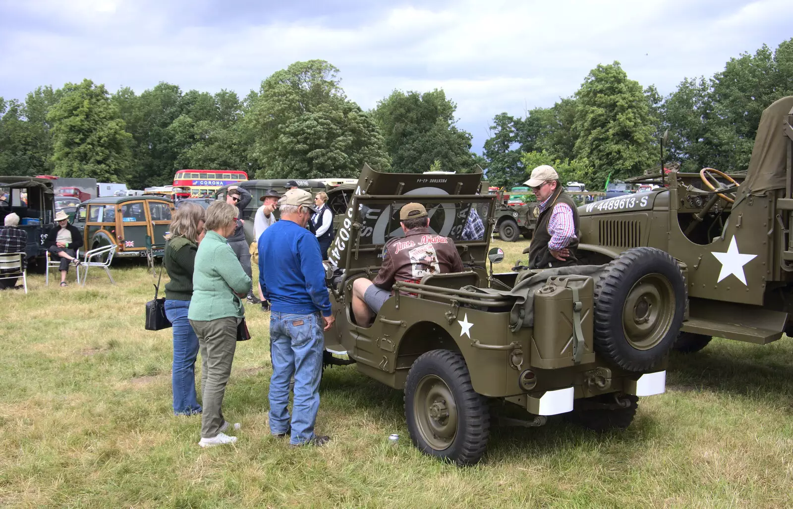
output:
M 630 183 L 661 186 L 578 209 L 583 262 L 654 247 L 687 274 L 688 320 L 675 348 L 716 336 L 771 343 L 793 334 L 793 97 L 764 110 L 745 174 L 672 169 Z

